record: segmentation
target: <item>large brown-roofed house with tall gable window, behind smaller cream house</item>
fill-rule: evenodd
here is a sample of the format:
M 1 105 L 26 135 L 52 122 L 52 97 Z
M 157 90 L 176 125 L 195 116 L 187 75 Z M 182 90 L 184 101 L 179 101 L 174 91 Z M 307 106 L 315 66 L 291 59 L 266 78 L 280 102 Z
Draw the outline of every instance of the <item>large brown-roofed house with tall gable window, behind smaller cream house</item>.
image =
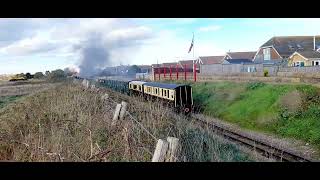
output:
M 296 51 L 316 51 L 320 48 L 320 36 L 275 36 L 260 46 L 254 62 L 278 63 L 288 60 Z

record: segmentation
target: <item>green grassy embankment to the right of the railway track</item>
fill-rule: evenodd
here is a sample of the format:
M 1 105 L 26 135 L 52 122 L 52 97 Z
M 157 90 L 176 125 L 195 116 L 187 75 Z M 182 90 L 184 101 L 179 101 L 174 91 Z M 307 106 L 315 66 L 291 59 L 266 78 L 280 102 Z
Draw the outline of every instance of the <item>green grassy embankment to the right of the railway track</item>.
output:
M 293 137 L 320 148 L 320 90 L 261 82 L 195 83 L 195 104 L 241 127 Z

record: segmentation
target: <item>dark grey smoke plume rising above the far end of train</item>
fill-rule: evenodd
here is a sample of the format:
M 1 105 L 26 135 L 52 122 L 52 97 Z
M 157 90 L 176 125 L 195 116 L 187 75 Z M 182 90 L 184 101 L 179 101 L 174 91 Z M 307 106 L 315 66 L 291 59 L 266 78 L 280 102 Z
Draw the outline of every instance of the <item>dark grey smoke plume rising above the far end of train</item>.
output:
M 89 77 L 98 74 L 109 65 L 110 52 L 102 40 L 100 33 L 92 33 L 80 47 L 80 76 Z

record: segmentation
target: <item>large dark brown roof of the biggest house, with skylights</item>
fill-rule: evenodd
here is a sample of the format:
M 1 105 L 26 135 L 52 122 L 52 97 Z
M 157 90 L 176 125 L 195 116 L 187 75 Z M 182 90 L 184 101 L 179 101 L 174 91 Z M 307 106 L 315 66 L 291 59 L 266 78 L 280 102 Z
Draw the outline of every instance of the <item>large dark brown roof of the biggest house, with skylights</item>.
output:
M 280 56 L 290 56 L 295 51 L 312 51 L 314 36 L 275 36 L 261 47 L 273 46 Z M 320 47 L 320 36 L 316 36 L 316 48 Z

